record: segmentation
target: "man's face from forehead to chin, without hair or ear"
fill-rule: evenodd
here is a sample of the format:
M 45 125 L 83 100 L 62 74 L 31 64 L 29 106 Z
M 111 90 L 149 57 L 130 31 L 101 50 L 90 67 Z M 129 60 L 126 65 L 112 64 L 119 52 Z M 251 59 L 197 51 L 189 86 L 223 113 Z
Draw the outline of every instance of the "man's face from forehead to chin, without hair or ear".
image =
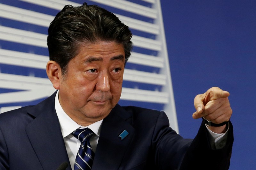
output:
M 124 74 L 122 44 L 104 42 L 82 45 L 60 76 L 59 100 L 76 123 L 87 126 L 105 118 L 117 104 Z

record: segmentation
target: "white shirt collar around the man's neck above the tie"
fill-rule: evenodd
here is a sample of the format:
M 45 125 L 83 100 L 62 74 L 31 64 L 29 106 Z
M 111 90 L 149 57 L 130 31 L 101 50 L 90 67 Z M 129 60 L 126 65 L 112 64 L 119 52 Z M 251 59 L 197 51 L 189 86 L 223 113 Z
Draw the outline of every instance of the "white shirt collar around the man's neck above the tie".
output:
M 86 127 L 77 124 L 62 109 L 59 101 L 59 90 L 57 91 L 55 96 L 55 110 L 60 122 L 60 129 L 61 129 L 63 138 L 68 136 L 78 128 L 90 128 L 94 132 L 94 134 L 100 136 L 100 128 L 101 128 L 103 119 Z

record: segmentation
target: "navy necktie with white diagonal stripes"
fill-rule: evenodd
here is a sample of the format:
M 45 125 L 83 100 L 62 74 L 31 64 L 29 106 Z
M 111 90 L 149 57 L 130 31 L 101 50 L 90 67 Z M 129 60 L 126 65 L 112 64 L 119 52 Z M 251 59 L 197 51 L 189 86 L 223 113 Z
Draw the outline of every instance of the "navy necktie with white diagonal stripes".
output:
M 93 135 L 92 130 L 89 128 L 76 129 L 73 135 L 81 142 L 80 148 L 76 155 L 74 170 L 81 169 L 87 170 L 92 169 L 92 162 L 94 158 L 94 152 L 90 145 L 90 138 Z

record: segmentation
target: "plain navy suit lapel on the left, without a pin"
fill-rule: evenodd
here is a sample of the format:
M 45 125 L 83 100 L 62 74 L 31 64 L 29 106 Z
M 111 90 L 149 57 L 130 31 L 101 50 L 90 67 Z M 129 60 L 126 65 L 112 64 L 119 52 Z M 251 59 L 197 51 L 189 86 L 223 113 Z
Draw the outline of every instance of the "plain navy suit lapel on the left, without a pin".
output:
M 26 132 L 44 169 L 57 169 L 63 162 L 69 164 L 60 123 L 54 107 L 54 97 L 55 93 L 28 111 L 35 119 L 28 124 Z M 68 169 L 71 170 L 70 165 Z

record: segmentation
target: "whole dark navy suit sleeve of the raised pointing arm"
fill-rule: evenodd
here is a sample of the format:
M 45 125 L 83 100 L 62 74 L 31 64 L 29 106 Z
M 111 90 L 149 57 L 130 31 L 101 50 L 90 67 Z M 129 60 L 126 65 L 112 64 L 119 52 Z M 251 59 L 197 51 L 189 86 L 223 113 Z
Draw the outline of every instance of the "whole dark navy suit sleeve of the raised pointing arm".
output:
M 155 161 L 159 169 L 228 169 L 233 143 L 231 122 L 226 146 L 213 150 L 204 123 L 194 140 L 184 139 L 169 127 L 168 118 L 162 113 L 156 122 L 154 135 L 154 142 L 157 143 Z

